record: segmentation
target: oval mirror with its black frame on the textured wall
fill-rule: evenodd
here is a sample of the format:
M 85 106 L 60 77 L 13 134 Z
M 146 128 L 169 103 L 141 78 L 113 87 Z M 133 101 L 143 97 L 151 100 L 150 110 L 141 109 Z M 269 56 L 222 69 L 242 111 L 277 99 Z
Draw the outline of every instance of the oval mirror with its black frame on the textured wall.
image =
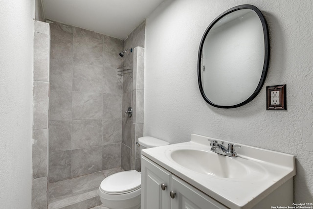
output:
M 198 54 L 202 97 L 219 108 L 250 102 L 261 90 L 269 62 L 268 26 L 252 5 L 233 7 L 205 30 Z

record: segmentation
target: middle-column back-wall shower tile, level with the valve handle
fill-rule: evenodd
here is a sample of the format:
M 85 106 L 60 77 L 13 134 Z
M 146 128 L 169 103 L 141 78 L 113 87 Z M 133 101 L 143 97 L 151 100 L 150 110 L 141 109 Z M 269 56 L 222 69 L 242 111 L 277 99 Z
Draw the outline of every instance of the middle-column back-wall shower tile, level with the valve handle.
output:
M 102 119 L 102 93 L 73 92 L 73 119 Z

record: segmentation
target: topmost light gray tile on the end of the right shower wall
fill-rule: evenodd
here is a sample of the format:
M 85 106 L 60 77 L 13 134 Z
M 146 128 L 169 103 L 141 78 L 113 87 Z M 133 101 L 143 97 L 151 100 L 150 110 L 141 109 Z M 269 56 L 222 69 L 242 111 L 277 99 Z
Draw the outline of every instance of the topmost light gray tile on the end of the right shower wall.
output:
M 144 48 L 134 49 L 133 90 L 144 90 Z

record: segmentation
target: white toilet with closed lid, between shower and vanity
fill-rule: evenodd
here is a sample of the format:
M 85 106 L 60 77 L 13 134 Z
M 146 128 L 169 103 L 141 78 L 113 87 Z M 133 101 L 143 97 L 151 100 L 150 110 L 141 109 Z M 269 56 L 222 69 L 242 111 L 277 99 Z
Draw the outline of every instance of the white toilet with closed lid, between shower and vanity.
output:
M 140 150 L 168 145 L 153 137 L 138 138 Z M 99 186 L 99 196 L 103 205 L 110 209 L 140 209 L 141 172 L 123 171 L 105 178 Z

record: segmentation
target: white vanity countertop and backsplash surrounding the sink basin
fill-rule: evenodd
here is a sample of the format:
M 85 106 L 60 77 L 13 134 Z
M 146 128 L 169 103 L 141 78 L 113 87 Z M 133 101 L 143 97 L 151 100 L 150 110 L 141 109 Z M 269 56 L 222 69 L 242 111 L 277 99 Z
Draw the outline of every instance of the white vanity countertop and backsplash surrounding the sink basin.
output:
M 192 134 L 189 142 L 144 149 L 141 154 L 231 209 L 252 208 L 273 190 L 295 176 L 293 155 L 243 144 L 238 144 L 241 148 L 235 149 L 238 157 L 234 159 L 239 163 L 246 163 L 248 175 L 242 178 L 221 178 L 201 174 L 172 160 L 171 153 L 174 150 L 209 151 L 211 146 L 207 139 L 212 138 Z

